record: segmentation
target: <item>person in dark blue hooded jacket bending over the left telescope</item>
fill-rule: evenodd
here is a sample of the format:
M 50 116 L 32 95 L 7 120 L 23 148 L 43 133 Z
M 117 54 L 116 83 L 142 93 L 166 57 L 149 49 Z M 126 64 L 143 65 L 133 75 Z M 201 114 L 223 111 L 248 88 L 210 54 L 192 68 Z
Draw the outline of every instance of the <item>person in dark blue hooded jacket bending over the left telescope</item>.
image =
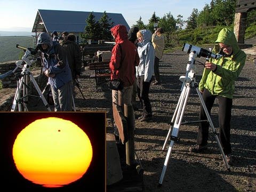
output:
M 55 111 L 71 111 L 72 76 L 65 50 L 57 41 L 52 41 L 47 33 L 38 36 L 37 45 L 42 51 L 43 70 L 49 77 Z

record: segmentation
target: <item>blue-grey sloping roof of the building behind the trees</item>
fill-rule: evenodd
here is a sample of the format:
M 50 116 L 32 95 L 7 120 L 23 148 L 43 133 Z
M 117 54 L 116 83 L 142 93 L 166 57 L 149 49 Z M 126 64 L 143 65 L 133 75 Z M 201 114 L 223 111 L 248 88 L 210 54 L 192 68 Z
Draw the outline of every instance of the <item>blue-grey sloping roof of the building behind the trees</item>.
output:
M 73 33 L 84 32 L 91 12 L 84 11 L 59 11 L 59 10 L 38 10 L 32 29 L 32 33 L 52 33 L 52 31 L 72 31 Z M 115 25 L 124 25 L 129 31 L 130 27 L 121 13 L 106 13 L 111 22 Z M 103 13 L 93 12 L 95 20 L 98 21 Z

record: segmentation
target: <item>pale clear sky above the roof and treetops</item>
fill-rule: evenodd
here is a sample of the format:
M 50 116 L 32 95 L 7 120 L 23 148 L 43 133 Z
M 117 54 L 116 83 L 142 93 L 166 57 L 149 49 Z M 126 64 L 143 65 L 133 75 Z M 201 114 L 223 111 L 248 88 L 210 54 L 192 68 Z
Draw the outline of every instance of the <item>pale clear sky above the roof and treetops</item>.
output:
M 210 3 L 211 0 L 0 0 L 0 30 L 8 29 L 11 31 L 11 28 L 26 27 L 30 28 L 28 31 L 31 31 L 38 9 L 121 13 L 131 27 L 137 23 L 136 21 L 140 17 L 143 23 L 147 25 L 154 12 L 159 18 L 162 18 L 167 13 L 171 13 L 175 19 L 180 14 L 183 16 L 183 20 L 187 20 L 194 8 L 202 11 L 205 4 Z

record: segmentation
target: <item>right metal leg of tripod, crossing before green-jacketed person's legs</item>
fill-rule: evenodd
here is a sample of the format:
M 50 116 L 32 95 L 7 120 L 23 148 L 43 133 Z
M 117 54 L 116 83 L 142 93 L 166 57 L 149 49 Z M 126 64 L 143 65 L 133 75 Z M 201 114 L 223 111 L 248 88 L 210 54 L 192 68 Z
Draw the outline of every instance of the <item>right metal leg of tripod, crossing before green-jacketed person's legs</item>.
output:
M 214 134 L 215 139 L 217 140 L 217 143 L 218 143 L 218 146 L 219 146 L 219 148 L 220 148 L 220 152 L 221 152 L 222 158 L 224 159 L 224 162 L 225 162 L 225 164 L 226 164 L 226 166 L 227 166 L 228 171 L 230 171 L 230 168 L 229 168 L 229 165 L 228 165 L 228 162 L 227 162 L 227 158 L 226 158 L 226 156 L 225 156 L 225 154 L 224 154 L 224 151 L 223 151 L 222 146 L 221 146 L 221 144 L 220 144 L 220 140 L 219 140 L 219 138 L 218 138 L 218 134 L 217 134 L 217 132 L 216 132 L 215 129 L 214 129 L 214 126 L 213 126 L 213 123 L 212 123 L 210 114 L 208 113 L 208 110 L 207 110 L 207 108 L 206 108 L 206 106 L 205 106 L 205 103 L 204 103 L 204 100 L 203 100 L 203 96 L 202 96 L 202 94 L 200 93 L 198 87 L 196 87 L 196 92 L 197 92 L 197 94 L 199 95 L 200 101 L 201 101 L 201 103 L 202 103 L 202 106 L 203 106 L 204 111 L 205 111 L 205 113 L 206 113 L 206 116 L 207 116 L 207 118 L 208 118 L 208 121 L 209 121 L 209 123 L 210 123 L 210 125 L 211 125 L 212 132 L 213 132 L 213 134 Z

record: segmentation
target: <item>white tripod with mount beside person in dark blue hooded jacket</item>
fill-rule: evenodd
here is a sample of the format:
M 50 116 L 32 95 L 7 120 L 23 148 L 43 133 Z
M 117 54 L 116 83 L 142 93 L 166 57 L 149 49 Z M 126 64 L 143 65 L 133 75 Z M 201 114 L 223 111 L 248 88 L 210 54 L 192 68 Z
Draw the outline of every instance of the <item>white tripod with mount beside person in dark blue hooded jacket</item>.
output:
M 29 60 L 29 56 L 30 56 L 30 51 L 22 46 L 17 46 L 18 48 L 21 48 L 23 50 L 26 50 L 25 54 L 23 55 L 21 61 L 17 61 L 16 65 L 17 67 L 13 70 L 13 73 L 18 69 L 18 68 L 22 68 L 21 73 L 16 73 L 15 75 L 15 79 L 17 80 L 17 90 L 15 92 L 15 96 L 14 96 L 14 100 L 12 103 L 12 108 L 11 111 L 15 111 L 17 110 L 17 106 L 18 106 L 18 110 L 22 111 L 21 108 L 21 104 L 23 105 L 23 107 L 25 108 L 25 111 L 28 111 L 27 108 L 27 103 L 28 103 L 28 96 L 32 96 L 32 97 L 37 97 L 37 98 L 41 98 L 44 102 L 45 107 L 51 111 L 49 104 L 47 103 L 47 101 L 44 98 L 43 93 L 41 92 L 41 90 L 39 89 L 39 86 L 37 85 L 34 76 L 31 74 L 31 71 L 29 70 L 29 67 L 31 65 L 31 63 L 34 62 L 34 60 Z M 22 63 L 25 62 L 26 64 L 23 65 L 22 67 Z M 31 81 L 33 82 L 38 94 L 40 95 L 35 96 L 35 95 L 29 95 L 28 94 L 28 77 L 30 77 Z M 20 91 L 23 87 L 23 97 L 20 97 Z

